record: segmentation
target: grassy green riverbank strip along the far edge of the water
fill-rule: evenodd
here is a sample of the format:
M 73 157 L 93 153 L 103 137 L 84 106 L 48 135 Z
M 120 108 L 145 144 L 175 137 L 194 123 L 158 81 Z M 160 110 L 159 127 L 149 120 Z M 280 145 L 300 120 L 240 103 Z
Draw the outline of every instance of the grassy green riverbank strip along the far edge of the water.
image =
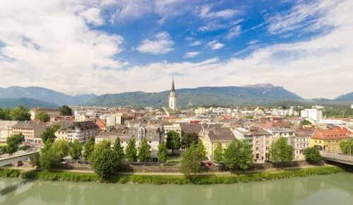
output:
M 279 172 L 258 172 L 245 175 L 114 175 L 109 179 L 88 172 L 66 172 L 31 170 L 23 171 L 1 169 L 1 177 L 20 177 L 22 179 L 44 181 L 68 181 L 68 182 L 109 182 L 119 184 L 152 184 L 152 185 L 215 185 L 234 184 L 239 182 L 262 182 L 266 180 L 278 180 L 292 177 L 305 177 L 309 175 L 332 175 L 342 172 L 342 168 L 335 166 L 321 166 L 318 168 L 302 168 L 297 170 L 282 170 Z

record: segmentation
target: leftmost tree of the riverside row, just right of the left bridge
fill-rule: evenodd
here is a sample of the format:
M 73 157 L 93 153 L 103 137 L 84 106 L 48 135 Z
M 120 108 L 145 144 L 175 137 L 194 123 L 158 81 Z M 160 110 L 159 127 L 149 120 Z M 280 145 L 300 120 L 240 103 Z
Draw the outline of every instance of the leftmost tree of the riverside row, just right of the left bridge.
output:
M 60 156 L 52 148 L 52 141 L 48 139 L 45 141 L 44 147 L 42 148 L 42 154 L 40 156 L 40 167 L 44 170 L 50 170 L 59 164 Z

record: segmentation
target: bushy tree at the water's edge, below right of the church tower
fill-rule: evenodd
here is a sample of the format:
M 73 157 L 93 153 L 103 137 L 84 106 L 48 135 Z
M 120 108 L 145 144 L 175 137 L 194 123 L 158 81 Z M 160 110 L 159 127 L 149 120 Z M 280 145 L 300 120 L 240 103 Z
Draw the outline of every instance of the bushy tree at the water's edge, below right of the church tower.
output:
M 181 154 L 180 171 L 188 177 L 202 171 L 201 163 L 206 160 L 205 147 L 202 143 L 191 144 L 186 151 Z

